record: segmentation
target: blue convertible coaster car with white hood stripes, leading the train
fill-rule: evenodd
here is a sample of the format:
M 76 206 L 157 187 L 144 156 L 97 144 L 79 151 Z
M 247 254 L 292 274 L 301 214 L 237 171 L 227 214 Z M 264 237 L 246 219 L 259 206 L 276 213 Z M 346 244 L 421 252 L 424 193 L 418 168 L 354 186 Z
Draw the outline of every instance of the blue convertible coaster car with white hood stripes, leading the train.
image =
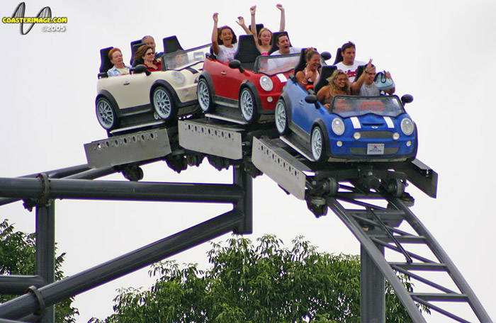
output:
M 315 162 L 400 162 L 417 154 L 412 96 L 334 96 L 326 108 L 289 79 L 276 103 L 281 139 Z

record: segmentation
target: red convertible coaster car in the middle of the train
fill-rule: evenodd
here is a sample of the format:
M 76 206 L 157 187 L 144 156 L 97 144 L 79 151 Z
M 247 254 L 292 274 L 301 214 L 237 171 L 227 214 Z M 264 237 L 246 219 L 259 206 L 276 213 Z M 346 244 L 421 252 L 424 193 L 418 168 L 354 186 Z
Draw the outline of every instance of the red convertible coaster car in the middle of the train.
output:
M 219 62 L 213 55 L 203 63 L 198 102 L 212 118 L 256 123 L 273 118 L 288 74 L 300 54 L 260 56 L 252 35 L 239 37 L 235 60 Z

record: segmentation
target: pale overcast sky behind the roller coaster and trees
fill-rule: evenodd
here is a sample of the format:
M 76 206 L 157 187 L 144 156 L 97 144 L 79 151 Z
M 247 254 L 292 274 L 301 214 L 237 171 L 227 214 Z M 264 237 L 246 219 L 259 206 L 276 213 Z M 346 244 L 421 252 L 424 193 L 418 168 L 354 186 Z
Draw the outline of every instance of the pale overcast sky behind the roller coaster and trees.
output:
M 159 41 L 177 35 L 184 48 L 210 42 L 212 13 L 219 26 L 231 26 L 239 15 L 249 19 L 257 4 L 257 23 L 278 29 L 276 1 L 26 1 L 25 16 L 50 6 L 52 16 L 67 17 L 64 32 L 35 26 L 21 35 L 16 24 L 0 26 L 0 177 L 86 164 L 83 145 L 106 137 L 94 112 L 99 50 L 120 47 L 130 59 L 130 42 L 153 35 Z M 0 3 L 0 16 L 10 17 L 18 1 Z M 372 58 L 387 69 L 396 93 L 412 94 L 407 106 L 417 123 L 417 158 L 439 174 L 438 195 L 429 198 L 415 187 L 412 212 L 419 217 L 473 288 L 492 319 L 496 260 L 495 209 L 492 188 L 495 152 L 495 103 L 490 86 L 496 72 L 496 2 L 473 1 L 286 1 L 286 30 L 297 47 L 316 47 L 333 57 L 337 47 L 356 43 L 356 59 Z M 143 167 L 143 181 L 231 183 L 232 171 L 219 172 L 204 162 L 181 174 L 164 162 Z M 115 174 L 105 179 L 123 180 Z M 56 242 L 66 252 L 67 276 L 230 210 L 230 205 L 57 200 Z M 33 232 L 34 212 L 22 203 L 0 207 L 0 219 Z M 319 251 L 358 254 L 359 243 L 329 211 L 316 219 L 305 202 L 287 196 L 267 176 L 254 179 L 255 240 L 262 234 L 291 245 L 304 235 Z M 230 235 L 217 241 L 225 240 Z M 179 263 L 208 266 L 209 244 L 172 257 Z M 112 313 L 115 290 L 150 287 L 148 268 L 76 297 L 77 322 Z M 428 322 L 447 322 L 427 317 Z

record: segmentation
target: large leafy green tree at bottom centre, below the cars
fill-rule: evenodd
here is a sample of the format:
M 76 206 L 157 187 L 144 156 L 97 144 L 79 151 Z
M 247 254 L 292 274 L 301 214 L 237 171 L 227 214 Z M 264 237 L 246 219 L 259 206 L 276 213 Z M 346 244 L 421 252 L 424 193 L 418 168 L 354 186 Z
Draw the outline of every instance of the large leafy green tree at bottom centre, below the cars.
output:
M 213 244 L 208 271 L 157 263 L 150 276 L 159 278 L 150 290 L 121 289 L 115 313 L 90 322 L 360 322 L 359 256 L 318 253 L 303 237 L 291 249 L 272 235 L 258 242 Z M 385 297 L 387 322 L 411 322 L 390 285 Z

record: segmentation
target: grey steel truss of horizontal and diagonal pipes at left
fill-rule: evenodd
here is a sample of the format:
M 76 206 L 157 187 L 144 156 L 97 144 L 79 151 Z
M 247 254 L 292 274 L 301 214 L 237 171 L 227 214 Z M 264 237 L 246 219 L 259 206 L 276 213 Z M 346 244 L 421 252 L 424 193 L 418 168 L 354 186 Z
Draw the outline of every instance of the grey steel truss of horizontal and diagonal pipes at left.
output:
M 96 176 L 111 169 L 71 176 Z M 113 171 L 112 171 L 113 172 Z M 132 273 L 193 246 L 208 242 L 228 232 L 252 233 L 252 177 L 233 167 L 233 184 L 137 183 L 38 178 L 0 179 L 0 196 L 31 200 L 36 207 L 36 272 L 38 276 L 0 276 L 5 290 L 18 293 L 33 283 L 28 293 L 0 305 L 0 323 L 12 319 L 55 322 L 53 306 L 57 302 Z M 234 209 L 199 225 L 173 234 L 116 259 L 76 275 L 55 280 L 55 198 L 98 200 L 150 200 L 233 203 Z M 6 199 L 4 199 L 6 200 Z M 25 279 L 22 281 L 22 279 Z M 45 282 L 48 285 L 45 285 Z M 3 284 L 2 284 L 3 285 Z M 39 288 L 40 285 L 44 285 Z M 37 287 L 35 287 L 37 286 Z M 25 290 L 23 290 L 24 292 Z

